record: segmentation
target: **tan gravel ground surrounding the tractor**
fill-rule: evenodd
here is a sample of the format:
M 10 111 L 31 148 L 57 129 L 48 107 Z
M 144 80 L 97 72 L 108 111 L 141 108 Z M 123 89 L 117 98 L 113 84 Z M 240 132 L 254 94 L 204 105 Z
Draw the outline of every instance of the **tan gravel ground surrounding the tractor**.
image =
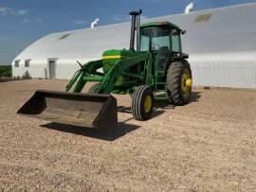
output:
M 117 96 L 127 108 L 111 131 L 16 114 L 35 90 L 65 84 L 0 83 L 0 191 L 256 191 L 255 91 L 194 89 L 145 122 Z

